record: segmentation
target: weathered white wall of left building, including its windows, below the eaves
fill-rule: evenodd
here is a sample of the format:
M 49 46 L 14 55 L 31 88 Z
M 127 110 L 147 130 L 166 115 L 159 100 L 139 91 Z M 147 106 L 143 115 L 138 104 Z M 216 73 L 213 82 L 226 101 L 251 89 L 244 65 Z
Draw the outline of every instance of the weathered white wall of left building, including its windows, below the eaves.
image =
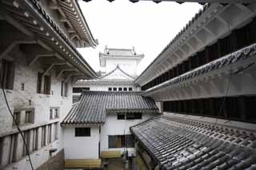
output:
M 62 77 L 57 79 L 54 69 L 43 75 L 40 64 L 27 66 L 24 53 L 14 48 L 14 61 L 0 60 L 1 80 L 14 117 L 18 121 L 29 145 L 34 168 L 63 149 L 62 129 L 59 121 L 71 109 L 71 80 L 66 81 L 66 97 L 61 95 Z M 53 108 L 53 119 L 50 119 Z M 56 113 L 55 109 L 58 109 Z M 37 142 L 38 141 L 38 142 Z M 15 152 L 14 152 L 15 151 Z M 26 168 L 25 168 L 26 167 Z M 2 87 L 0 90 L 0 169 L 30 169 L 22 137 L 6 107 Z

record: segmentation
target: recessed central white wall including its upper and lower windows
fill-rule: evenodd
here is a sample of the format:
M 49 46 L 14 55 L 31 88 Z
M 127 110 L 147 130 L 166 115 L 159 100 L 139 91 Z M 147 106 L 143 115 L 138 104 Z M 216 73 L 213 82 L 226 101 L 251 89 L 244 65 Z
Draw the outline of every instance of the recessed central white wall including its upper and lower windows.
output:
M 101 130 L 101 152 L 102 151 L 114 151 L 120 150 L 121 152 L 126 152 L 126 147 L 124 146 L 129 140 L 129 145 L 127 145 L 128 155 L 135 155 L 134 147 L 130 144 L 130 127 L 138 125 L 142 121 L 148 120 L 150 117 L 153 117 L 152 113 L 107 113 L 106 122 L 102 125 Z M 124 141 L 126 139 L 126 141 Z M 109 141 L 112 140 L 113 143 L 109 144 Z M 113 144 L 116 144 L 116 148 L 111 147 Z

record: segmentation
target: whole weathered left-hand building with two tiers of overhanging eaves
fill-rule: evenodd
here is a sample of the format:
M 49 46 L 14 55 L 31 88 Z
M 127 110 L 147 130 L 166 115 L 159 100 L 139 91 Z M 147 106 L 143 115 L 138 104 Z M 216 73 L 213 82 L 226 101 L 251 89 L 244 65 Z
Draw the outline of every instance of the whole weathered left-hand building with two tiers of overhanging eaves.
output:
M 29 170 L 30 155 L 34 169 L 62 170 L 60 121 L 72 85 L 97 77 L 75 48 L 98 42 L 75 0 L 1 0 L 0 7 L 0 169 Z

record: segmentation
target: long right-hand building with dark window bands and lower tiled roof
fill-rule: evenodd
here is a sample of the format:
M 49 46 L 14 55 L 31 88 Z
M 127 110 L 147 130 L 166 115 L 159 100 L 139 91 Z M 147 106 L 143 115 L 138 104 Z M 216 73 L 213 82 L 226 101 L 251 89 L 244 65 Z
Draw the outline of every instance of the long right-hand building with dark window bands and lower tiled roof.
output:
M 208 4 L 134 81 L 163 115 L 131 131 L 141 167 L 256 168 L 256 4 Z

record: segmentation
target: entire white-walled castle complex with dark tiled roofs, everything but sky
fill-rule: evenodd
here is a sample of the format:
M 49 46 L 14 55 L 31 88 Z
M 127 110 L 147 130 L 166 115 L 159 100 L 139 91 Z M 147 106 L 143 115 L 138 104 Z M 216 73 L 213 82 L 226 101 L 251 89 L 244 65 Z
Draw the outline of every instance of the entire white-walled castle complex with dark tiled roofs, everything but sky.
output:
M 78 2 L 0 0 L 0 169 L 256 169 L 254 0 L 175 1 L 203 6 L 142 73 L 139 46 L 94 71 Z

